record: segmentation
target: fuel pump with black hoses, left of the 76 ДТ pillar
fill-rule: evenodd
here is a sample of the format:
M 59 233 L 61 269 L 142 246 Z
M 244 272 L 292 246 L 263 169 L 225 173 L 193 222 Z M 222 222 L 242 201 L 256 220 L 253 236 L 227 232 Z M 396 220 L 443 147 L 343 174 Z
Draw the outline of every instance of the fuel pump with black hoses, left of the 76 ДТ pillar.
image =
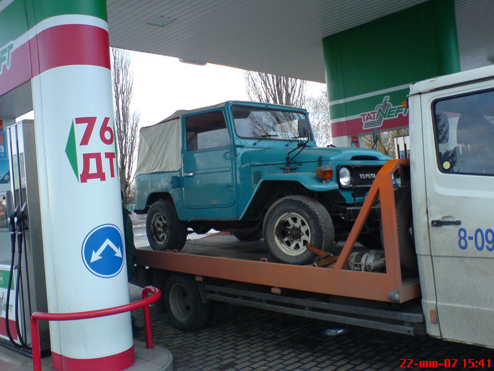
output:
M 4 203 L 11 246 L 9 261 L 0 261 L 0 288 L 5 287 L 5 293 L 0 293 L 0 308 L 4 308 L 0 313 L 0 338 L 29 350 L 31 314 L 47 312 L 34 122 L 24 120 L 9 126 L 7 146 L 11 190 L 4 192 Z M 0 213 L 2 197 L 0 193 Z M 49 349 L 47 323 L 40 324 L 40 340 L 41 350 Z

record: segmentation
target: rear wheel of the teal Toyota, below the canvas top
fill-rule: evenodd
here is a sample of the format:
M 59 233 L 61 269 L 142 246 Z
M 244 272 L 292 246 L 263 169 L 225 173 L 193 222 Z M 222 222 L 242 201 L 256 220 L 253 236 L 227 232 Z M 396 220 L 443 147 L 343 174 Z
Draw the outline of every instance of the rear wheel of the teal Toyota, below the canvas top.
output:
M 178 219 L 175 206 L 156 201 L 146 217 L 146 234 L 153 250 L 181 250 L 187 239 L 187 224 Z

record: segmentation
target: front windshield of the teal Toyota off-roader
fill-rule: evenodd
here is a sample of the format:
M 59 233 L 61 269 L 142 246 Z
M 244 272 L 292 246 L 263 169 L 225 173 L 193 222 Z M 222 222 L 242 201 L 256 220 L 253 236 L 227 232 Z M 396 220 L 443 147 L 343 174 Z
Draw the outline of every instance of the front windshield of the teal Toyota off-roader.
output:
M 240 138 L 290 140 L 298 138 L 298 120 L 307 119 L 301 112 L 233 106 L 235 131 Z

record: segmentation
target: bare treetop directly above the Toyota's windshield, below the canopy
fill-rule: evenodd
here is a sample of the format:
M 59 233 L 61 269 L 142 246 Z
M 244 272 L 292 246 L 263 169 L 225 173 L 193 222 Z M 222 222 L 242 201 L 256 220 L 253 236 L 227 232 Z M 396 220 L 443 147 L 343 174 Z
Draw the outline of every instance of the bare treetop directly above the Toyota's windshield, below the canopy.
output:
M 305 80 L 254 71 L 244 71 L 244 79 L 250 100 L 305 108 Z

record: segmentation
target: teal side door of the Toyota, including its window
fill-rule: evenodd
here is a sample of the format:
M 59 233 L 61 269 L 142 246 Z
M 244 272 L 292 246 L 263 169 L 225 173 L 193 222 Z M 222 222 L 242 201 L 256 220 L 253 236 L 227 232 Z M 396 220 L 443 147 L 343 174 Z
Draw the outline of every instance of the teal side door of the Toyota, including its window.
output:
M 233 146 L 223 110 L 185 116 L 182 148 L 183 201 L 189 208 L 226 208 L 235 203 Z M 208 217 L 227 217 L 213 210 Z

